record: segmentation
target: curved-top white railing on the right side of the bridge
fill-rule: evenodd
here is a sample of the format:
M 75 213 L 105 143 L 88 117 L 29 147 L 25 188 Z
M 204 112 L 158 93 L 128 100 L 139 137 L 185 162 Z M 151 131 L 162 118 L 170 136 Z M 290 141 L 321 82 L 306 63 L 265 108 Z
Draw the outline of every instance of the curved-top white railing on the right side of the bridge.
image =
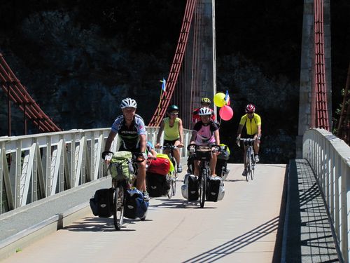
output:
M 302 152 L 325 197 L 344 261 L 349 262 L 350 147 L 327 130 L 314 128 L 304 133 Z

